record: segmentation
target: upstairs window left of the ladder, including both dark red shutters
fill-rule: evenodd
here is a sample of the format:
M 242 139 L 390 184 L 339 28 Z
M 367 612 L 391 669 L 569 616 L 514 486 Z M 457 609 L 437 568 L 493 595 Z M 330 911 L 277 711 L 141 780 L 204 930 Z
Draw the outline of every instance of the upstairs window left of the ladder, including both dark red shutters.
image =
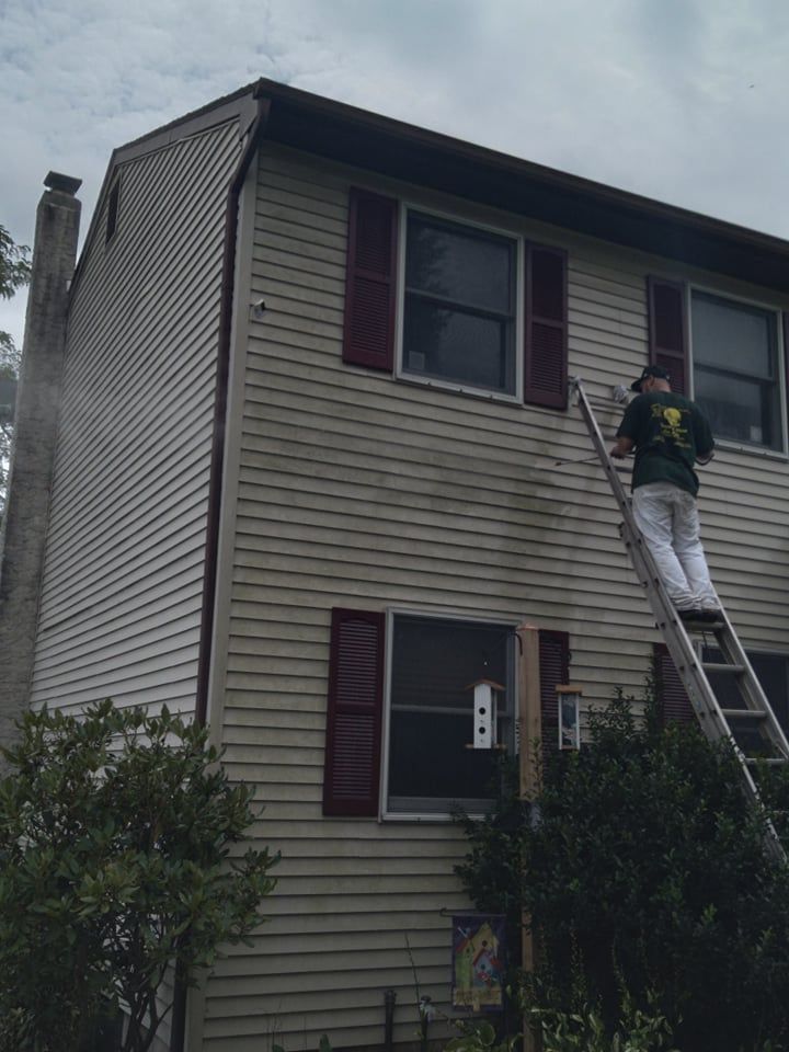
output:
M 567 272 L 562 249 L 352 187 L 343 362 L 567 409 Z

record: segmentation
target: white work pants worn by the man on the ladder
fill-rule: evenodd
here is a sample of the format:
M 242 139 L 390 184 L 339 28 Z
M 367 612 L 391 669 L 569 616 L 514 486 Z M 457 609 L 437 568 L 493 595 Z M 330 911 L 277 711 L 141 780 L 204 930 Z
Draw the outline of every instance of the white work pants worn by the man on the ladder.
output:
M 676 608 L 717 609 L 693 494 L 671 482 L 649 482 L 633 490 L 632 510 Z

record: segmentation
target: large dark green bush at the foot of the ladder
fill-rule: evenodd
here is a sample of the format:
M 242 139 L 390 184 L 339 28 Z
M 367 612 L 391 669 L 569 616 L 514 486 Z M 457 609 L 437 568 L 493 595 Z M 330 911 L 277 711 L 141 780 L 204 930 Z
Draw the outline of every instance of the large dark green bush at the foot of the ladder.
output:
M 621 697 L 591 735 L 546 764 L 534 804 L 505 778 L 498 810 L 465 820 L 478 906 L 531 916 L 540 1007 L 573 1010 L 580 960 L 609 1034 L 624 987 L 678 1048 L 789 1045 L 789 871 L 765 857 L 731 750 L 651 704 L 638 722 Z

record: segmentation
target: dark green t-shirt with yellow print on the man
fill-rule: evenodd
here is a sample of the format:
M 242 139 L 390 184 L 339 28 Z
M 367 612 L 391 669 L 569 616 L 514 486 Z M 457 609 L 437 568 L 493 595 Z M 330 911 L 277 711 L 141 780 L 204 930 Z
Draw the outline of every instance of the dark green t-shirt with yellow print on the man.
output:
M 712 432 L 701 410 L 674 391 L 639 395 L 628 405 L 617 438 L 636 445 L 632 488 L 648 482 L 673 482 L 694 496 L 697 457 L 712 451 Z

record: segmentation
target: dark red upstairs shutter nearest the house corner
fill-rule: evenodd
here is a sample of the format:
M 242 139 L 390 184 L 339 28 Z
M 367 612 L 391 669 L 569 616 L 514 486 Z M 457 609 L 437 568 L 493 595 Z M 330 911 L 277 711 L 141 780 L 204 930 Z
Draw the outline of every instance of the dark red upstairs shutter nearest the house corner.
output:
M 343 362 L 391 371 L 398 203 L 351 190 Z

